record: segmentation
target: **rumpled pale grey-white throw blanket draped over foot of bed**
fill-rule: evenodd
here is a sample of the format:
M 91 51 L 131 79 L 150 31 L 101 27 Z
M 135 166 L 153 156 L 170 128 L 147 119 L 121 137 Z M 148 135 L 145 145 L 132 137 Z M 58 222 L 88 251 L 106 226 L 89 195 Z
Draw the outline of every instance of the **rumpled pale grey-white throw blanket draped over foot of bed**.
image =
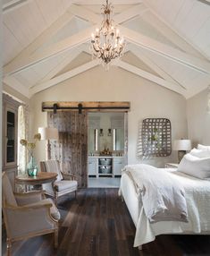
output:
M 145 214 L 151 223 L 178 220 L 188 222 L 183 186 L 164 169 L 148 165 L 126 166 L 124 172 L 141 194 Z

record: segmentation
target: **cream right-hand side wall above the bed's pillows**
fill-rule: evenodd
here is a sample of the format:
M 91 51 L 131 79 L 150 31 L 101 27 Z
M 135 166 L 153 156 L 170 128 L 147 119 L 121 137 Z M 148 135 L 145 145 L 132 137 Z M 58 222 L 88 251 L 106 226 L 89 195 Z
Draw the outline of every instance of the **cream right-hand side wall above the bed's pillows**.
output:
M 207 90 L 187 100 L 189 139 L 194 146 L 197 143 L 210 145 L 210 114 L 206 112 Z

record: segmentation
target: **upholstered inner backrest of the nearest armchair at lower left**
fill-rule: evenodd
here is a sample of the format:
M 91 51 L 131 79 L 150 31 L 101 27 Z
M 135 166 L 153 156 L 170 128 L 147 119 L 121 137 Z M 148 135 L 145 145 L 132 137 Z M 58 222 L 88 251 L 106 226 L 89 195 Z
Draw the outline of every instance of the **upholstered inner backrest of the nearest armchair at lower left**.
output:
M 13 194 L 12 185 L 5 173 L 3 173 L 2 175 L 2 192 L 3 192 L 4 200 L 7 204 L 17 206 L 17 201 L 15 200 L 15 197 Z

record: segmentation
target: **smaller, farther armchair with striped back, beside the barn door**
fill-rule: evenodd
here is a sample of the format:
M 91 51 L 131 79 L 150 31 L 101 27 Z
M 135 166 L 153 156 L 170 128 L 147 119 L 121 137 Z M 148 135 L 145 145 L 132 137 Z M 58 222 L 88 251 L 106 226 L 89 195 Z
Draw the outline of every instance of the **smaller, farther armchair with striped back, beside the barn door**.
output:
M 77 196 L 78 182 L 75 180 L 74 175 L 64 174 L 61 171 L 59 162 L 57 160 L 47 160 L 40 162 L 42 172 L 57 173 L 57 178 L 54 183 L 43 184 L 43 189 L 46 194 L 55 198 L 55 205 L 57 205 L 58 197 L 75 192 L 75 198 Z

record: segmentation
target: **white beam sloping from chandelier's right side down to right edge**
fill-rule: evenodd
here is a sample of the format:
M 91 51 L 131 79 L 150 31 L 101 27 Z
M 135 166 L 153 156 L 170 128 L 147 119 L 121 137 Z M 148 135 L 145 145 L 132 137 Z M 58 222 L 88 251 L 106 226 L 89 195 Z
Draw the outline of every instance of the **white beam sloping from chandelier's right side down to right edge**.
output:
M 131 43 L 146 48 L 164 57 L 170 58 L 176 63 L 187 65 L 191 69 L 195 69 L 201 73 L 210 73 L 210 62 L 181 52 L 179 49 L 164 45 L 153 38 L 149 38 L 141 33 L 119 26 L 121 33 Z

